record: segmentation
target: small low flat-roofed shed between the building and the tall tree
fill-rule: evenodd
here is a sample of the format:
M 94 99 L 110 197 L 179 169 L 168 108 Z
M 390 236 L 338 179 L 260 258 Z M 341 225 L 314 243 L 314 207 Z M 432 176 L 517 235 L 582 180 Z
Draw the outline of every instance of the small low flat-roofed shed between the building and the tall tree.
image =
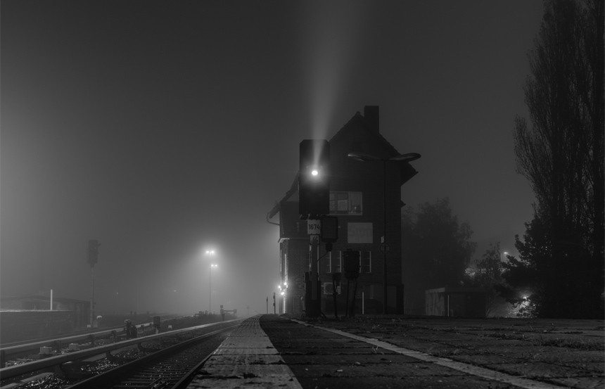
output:
M 425 313 L 447 317 L 485 317 L 485 289 L 436 288 L 425 291 Z

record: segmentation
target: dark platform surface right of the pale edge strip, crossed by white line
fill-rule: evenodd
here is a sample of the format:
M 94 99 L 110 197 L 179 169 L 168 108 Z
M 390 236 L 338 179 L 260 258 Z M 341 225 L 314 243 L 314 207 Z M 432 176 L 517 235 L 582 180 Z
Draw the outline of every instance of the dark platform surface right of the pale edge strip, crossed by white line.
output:
M 603 320 L 263 315 L 260 326 L 303 388 L 605 388 Z

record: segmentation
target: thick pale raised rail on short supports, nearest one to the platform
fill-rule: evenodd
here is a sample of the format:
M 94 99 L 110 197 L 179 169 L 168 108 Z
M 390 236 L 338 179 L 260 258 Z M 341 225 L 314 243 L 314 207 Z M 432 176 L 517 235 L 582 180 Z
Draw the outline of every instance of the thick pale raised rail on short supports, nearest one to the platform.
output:
M 242 321 L 243 319 L 232 319 L 228 321 L 220 321 L 219 323 L 211 323 L 211 324 L 202 324 L 200 326 L 189 327 L 187 329 L 179 329 L 164 333 L 158 333 L 150 336 L 143 336 L 141 338 L 134 338 L 130 340 L 122 340 L 121 342 L 112 343 L 110 345 L 101 345 L 98 347 L 92 347 L 87 350 L 80 350 L 70 352 L 69 354 L 56 355 L 54 357 L 48 357 L 44 359 L 39 359 L 38 361 L 28 362 L 25 364 L 17 364 L 13 366 L 8 366 L 0 369 L 0 376 L 2 379 L 13 378 L 15 376 L 20 376 L 22 374 L 31 373 L 32 371 L 38 371 L 41 369 L 46 369 L 51 366 L 57 366 L 60 364 L 64 364 L 65 362 L 72 362 L 78 359 L 84 359 L 87 357 L 93 357 L 94 355 L 100 355 L 104 353 L 111 352 L 113 350 L 117 350 L 120 348 L 128 347 L 129 345 L 139 345 L 140 343 L 149 342 L 151 340 L 156 340 L 160 338 L 164 338 L 166 336 L 174 336 L 178 333 L 185 333 L 189 331 L 195 331 L 198 329 L 207 329 L 212 326 L 225 326 L 226 324 L 234 323 L 236 321 Z

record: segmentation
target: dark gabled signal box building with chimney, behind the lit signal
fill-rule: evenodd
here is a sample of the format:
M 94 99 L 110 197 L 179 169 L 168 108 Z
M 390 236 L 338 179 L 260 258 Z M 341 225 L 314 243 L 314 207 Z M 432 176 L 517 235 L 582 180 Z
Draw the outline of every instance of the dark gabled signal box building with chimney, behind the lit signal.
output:
M 343 252 L 359 251 L 356 312 L 382 313 L 384 302 L 384 251 L 381 250 L 386 224 L 387 312 L 403 313 L 401 200 L 402 185 L 417 174 L 409 162 L 388 160 L 400 153 L 380 133 L 378 106 L 366 106 L 364 115 L 357 112 L 331 139 L 330 145 L 330 215 L 338 217 L 338 241 L 326 253 L 319 245 L 319 280 L 321 312 L 333 312 L 332 274 L 342 273 L 338 314 L 344 314 L 348 281 L 344 276 Z M 365 153 L 380 160 L 362 162 L 348 153 Z M 383 160 L 388 160 L 383 162 Z M 267 219 L 279 214 L 279 274 L 281 291 L 276 291 L 280 313 L 301 314 L 305 310 L 305 272 L 310 271 L 310 236 L 307 221 L 298 209 L 298 176 L 286 196 L 269 211 Z M 386 200 L 386 219 L 383 210 Z M 273 219 L 275 221 L 275 219 Z M 322 257 L 323 256 L 323 257 Z

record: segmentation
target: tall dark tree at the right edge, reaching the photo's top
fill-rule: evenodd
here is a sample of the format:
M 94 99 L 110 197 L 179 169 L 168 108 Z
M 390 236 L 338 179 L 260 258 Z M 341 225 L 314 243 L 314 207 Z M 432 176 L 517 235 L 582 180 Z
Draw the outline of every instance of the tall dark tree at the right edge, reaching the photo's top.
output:
M 517 171 L 537 203 L 505 278 L 517 290 L 532 280 L 542 317 L 604 312 L 603 20 L 602 0 L 545 1 L 524 87 L 530 124 L 515 120 Z

